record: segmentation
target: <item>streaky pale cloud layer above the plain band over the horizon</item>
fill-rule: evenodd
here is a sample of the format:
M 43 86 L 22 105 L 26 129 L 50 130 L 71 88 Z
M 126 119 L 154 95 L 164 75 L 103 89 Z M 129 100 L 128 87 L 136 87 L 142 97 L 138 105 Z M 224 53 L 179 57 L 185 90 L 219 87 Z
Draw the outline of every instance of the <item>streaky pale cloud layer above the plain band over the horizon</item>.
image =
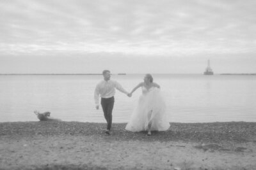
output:
M 0 53 L 255 52 L 255 1 L 27 0 L 0 5 Z

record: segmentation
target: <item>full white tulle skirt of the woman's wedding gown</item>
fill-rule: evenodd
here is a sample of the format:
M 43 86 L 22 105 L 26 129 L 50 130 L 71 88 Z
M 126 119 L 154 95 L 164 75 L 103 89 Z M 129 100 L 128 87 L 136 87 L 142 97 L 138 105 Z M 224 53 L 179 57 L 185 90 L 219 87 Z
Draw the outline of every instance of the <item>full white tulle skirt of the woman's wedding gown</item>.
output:
M 166 131 L 170 127 L 166 115 L 166 105 L 159 89 L 154 88 L 147 94 L 142 94 L 131 115 L 125 129 L 132 132 L 148 130 L 151 122 L 151 131 Z

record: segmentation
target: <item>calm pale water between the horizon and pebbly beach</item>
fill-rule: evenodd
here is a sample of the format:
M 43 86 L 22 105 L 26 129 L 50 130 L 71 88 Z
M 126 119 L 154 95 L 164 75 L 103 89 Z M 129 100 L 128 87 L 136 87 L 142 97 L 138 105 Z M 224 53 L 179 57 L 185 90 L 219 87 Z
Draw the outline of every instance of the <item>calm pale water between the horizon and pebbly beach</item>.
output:
M 143 74 L 113 75 L 131 91 Z M 256 122 L 256 76 L 153 74 L 170 122 Z M 0 122 L 37 121 L 34 110 L 64 121 L 105 122 L 93 100 L 102 76 L 0 76 Z M 113 122 L 128 122 L 141 89 L 131 98 L 116 91 Z

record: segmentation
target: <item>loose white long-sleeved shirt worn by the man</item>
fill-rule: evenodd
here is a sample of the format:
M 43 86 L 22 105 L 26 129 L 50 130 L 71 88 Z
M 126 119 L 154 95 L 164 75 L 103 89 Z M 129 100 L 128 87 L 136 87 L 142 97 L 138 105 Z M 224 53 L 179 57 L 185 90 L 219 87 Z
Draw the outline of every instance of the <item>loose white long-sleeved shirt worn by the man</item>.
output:
M 102 98 L 109 98 L 113 97 L 115 95 L 115 89 L 119 90 L 120 92 L 123 92 L 124 94 L 129 94 L 122 85 L 120 85 L 117 81 L 115 80 L 102 80 L 100 81 L 94 92 L 94 100 L 96 106 L 99 106 L 99 96 Z

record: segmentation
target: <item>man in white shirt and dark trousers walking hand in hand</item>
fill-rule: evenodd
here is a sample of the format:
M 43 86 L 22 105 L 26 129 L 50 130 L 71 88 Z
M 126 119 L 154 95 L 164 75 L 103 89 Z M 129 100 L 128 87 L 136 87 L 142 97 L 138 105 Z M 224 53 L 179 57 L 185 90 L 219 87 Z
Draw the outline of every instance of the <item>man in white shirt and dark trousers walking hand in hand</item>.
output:
M 102 110 L 104 112 L 104 117 L 107 121 L 107 131 L 106 134 L 110 134 L 111 124 L 112 124 L 112 110 L 115 103 L 115 89 L 127 94 L 129 93 L 123 89 L 123 87 L 114 80 L 110 80 L 110 71 L 104 70 L 102 72 L 104 80 L 100 81 L 94 92 L 94 100 L 96 104 L 96 109 L 99 110 L 99 96 L 101 97 L 100 104 L 102 106 Z M 129 96 L 130 97 L 130 96 Z

